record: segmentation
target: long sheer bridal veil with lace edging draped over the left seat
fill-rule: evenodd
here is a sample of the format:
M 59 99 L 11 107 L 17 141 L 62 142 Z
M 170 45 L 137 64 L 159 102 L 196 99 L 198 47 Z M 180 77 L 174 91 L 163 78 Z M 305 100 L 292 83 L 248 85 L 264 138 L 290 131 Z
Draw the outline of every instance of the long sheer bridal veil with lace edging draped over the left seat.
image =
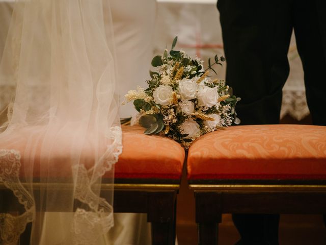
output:
M 15 3 L 0 63 L 0 83 L 16 88 L 1 126 L 0 185 L 21 211 L 1 210 L 2 244 L 16 244 L 30 222 L 40 244 L 46 211 L 71 214 L 56 224 L 69 228 L 60 244 L 96 243 L 113 226 L 122 146 L 110 13 L 108 0 Z

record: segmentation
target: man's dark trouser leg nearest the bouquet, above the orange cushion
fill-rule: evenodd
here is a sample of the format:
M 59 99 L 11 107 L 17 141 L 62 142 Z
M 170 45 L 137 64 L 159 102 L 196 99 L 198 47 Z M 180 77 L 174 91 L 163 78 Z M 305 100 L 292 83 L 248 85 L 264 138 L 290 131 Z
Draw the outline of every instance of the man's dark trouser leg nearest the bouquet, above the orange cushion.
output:
M 226 82 L 241 97 L 241 125 L 278 124 L 289 74 L 291 1 L 219 0 Z

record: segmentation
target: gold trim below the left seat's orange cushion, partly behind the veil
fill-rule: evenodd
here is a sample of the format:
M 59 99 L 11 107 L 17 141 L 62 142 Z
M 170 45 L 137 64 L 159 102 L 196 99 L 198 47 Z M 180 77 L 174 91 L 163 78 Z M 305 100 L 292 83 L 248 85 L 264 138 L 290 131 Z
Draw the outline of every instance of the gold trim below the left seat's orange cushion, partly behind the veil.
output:
M 25 188 L 30 184 L 22 183 Z M 34 190 L 41 189 L 61 189 L 69 190 L 73 186 L 70 183 L 33 183 Z M 142 190 L 142 191 L 164 191 L 164 190 L 178 190 L 179 184 L 114 184 L 115 190 Z M 0 190 L 8 189 L 3 183 L 0 183 Z M 101 190 L 111 190 L 112 184 L 101 184 Z

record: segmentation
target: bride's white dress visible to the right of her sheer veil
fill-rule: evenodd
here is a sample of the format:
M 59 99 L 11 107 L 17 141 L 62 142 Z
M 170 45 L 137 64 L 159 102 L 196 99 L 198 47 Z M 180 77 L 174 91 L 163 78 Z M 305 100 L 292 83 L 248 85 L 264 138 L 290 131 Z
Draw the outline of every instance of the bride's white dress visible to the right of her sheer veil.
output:
M 130 89 L 146 86 L 153 55 L 155 0 L 111 1 L 118 63 L 120 103 Z M 120 106 L 120 117 L 134 116 L 137 111 L 129 103 Z M 105 237 L 106 244 L 150 244 L 150 224 L 145 214 L 114 214 L 115 227 Z

